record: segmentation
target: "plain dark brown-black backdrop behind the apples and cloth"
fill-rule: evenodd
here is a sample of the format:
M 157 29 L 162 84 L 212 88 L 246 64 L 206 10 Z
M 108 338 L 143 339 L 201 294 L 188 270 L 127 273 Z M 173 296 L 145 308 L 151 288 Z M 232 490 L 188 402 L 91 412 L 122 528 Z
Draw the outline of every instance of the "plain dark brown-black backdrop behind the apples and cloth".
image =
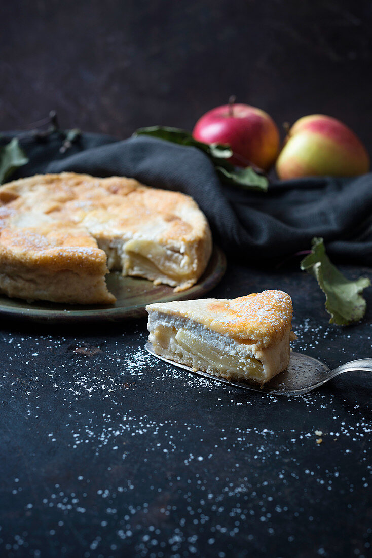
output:
M 340 118 L 372 151 L 369 0 L 1 2 L 1 128 L 128 137 L 239 102 L 281 125 Z

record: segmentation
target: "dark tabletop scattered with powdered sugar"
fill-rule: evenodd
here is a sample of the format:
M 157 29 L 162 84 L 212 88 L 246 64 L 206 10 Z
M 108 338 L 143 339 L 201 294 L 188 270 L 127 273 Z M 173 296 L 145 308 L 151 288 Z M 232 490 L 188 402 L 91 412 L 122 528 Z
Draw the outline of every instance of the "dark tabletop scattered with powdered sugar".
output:
M 272 287 L 293 297 L 295 350 L 330 367 L 371 355 L 370 292 L 345 329 L 298 271 L 230 262 L 212 295 Z M 291 398 L 226 387 L 148 355 L 145 320 L 3 323 L 0 339 L 0 554 L 370 555 L 368 374 Z

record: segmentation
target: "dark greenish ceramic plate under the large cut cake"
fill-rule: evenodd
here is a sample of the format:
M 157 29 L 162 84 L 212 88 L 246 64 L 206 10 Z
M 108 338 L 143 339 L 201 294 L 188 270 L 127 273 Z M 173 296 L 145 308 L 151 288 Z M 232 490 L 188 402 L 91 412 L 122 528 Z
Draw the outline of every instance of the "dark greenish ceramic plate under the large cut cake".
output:
M 117 301 L 113 305 L 63 305 L 53 302 L 26 302 L 0 295 L 0 315 L 22 320 L 48 323 L 119 321 L 146 315 L 145 306 L 151 302 L 196 299 L 210 291 L 221 280 L 226 269 L 224 253 L 214 247 L 204 275 L 186 291 L 173 292 L 167 285 L 153 285 L 151 281 L 123 277 L 114 271 L 107 276 L 107 286 Z

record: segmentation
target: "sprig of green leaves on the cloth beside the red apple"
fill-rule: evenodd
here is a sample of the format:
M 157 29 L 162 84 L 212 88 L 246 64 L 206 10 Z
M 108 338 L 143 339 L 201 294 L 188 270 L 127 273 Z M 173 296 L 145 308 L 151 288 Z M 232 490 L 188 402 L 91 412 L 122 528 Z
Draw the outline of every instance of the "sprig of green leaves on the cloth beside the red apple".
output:
M 160 140 L 166 140 L 180 145 L 197 147 L 204 151 L 214 163 L 216 172 L 220 179 L 227 184 L 239 186 L 245 190 L 267 191 L 269 181 L 266 176 L 255 172 L 252 167 L 236 170 L 226 159 L 233 155 L 228 145 L 221 143 L 203 143 L 192 137 L 190 132 L 181 128 L 170 128 L 168 126 L 150 126 L 139 128 L 133 136 L 153 136 Z

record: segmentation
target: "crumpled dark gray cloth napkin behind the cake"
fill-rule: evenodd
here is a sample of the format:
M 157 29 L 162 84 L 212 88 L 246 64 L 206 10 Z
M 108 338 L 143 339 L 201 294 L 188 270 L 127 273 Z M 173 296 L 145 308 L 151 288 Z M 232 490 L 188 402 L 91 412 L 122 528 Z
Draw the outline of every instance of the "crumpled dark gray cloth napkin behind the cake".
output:
M 216 242 L 241 262 L 279 262 L 310 249 L 312 237 L 320 236 L 332 258 L 372 264 L 372 174 L 277 182 L 267 193 L 249 193 L 221 184 L 209 158 L 196 148 L 151 137 L 117 141 L 82 134 L 65 153 L 57 134 L 27 138 L 21 145 L 30 162 L 12 179 L 74 171 L 132 176 L 189 194 L 204 211 Z

